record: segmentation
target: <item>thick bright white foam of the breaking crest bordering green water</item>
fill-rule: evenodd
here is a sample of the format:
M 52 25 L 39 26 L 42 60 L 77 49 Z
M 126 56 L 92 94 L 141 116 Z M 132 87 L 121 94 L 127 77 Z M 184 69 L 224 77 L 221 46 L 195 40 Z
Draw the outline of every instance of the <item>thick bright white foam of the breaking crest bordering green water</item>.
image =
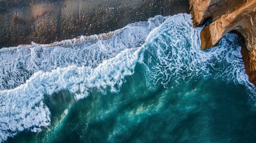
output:
M 106 88 L 118 91 L 124 76 L 133 73 L 137 58 L 135 49 L 125 49 L 95 69 L 69 66 L 48 72 L 38 71 L 25 84 L 0 91 L 1 141 L 24 129 L 37 132 L 42 126 L 50 125 L 50 111 L 42 102 L 44 95 L 69 89 L 79 100 L 92 88 L 101 92 Z

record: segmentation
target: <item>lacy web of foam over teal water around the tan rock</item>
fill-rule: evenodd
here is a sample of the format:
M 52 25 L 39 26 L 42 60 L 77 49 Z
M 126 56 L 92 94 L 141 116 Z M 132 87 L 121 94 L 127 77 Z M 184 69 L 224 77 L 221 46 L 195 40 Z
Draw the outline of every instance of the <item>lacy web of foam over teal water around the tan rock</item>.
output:
M 189 82 L 214 77 L 246 85 L 256 93 L 245 74 L 237 35 L 228 33 L 216 47 L 202 51 L 199 37 L 202 27 L 194 29 L 187 14 L 176 15 L 175 20 L 172 18 L 151 33 L 151 42 L 146 46 L 149 58 L 144 64 L 149 67 L 155 84 L 161 83 L 168 88 L 169 85 L 177 86 L 179 80 Z

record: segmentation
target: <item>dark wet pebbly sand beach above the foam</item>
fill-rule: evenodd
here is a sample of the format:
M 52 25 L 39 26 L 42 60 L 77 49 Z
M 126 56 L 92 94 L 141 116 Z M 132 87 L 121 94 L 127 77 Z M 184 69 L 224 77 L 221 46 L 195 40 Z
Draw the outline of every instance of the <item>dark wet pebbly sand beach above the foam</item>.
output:
M 188 0 L 0 0 L 0 48 L 106 33 L 177 13 L 189 13 Z

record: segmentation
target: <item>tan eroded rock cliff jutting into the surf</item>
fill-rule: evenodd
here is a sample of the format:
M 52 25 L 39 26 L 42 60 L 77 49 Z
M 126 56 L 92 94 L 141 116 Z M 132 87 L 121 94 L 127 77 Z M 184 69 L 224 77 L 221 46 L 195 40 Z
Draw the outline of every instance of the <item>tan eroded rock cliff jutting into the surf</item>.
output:
M 201 49 L 216 45 L 228 32 L 243 37 L 246 74 L 256 86 L 256 0 L 190 0 L 189 3 L 195 27 L 212 19 L 201 32 Z

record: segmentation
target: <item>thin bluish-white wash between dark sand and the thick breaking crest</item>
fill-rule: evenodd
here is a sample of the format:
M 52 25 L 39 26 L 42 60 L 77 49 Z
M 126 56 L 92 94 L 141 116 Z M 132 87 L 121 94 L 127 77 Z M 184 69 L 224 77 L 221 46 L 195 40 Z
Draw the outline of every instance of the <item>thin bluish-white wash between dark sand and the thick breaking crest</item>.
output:
M 128 24 L 115 32 L 80 36 L 50 45 L 32 43 L 0 49 L 0 90 L 16 88 L 37 71 L 67 66 L 97 67 L 124 49 L 143 45 L 150 31 L 165 18 L 158 15 L 147 22 Z

